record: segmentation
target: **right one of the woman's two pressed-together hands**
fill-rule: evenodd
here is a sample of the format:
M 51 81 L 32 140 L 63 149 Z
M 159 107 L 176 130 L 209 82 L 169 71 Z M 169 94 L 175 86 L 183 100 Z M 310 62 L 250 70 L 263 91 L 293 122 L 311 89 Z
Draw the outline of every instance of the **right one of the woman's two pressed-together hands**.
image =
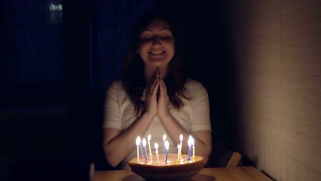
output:
M 160 120 L 169 116 L 169 97 L 167 95 L 167 89 L 162 75 L 159 74 L 159 97 L 157 103 L 157 116 Z

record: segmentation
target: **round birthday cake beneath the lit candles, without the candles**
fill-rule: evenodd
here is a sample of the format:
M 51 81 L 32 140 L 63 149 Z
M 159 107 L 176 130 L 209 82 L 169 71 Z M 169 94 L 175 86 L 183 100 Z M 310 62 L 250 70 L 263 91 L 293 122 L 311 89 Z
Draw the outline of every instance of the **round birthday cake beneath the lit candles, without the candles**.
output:
M 128 162 L 132 168 L 132 172 L 147 180 L 186 180 L 191 178 L 204 168 L 203 157 L 195 156 L 188 160 L 188 155 L 182 154 L 178 160 L 178 154 L 168 154 L 167 162 L 165 162 L 166 154 L 156 154 L 148 156 L 147 162 L 145 158 L 133 158 Z

